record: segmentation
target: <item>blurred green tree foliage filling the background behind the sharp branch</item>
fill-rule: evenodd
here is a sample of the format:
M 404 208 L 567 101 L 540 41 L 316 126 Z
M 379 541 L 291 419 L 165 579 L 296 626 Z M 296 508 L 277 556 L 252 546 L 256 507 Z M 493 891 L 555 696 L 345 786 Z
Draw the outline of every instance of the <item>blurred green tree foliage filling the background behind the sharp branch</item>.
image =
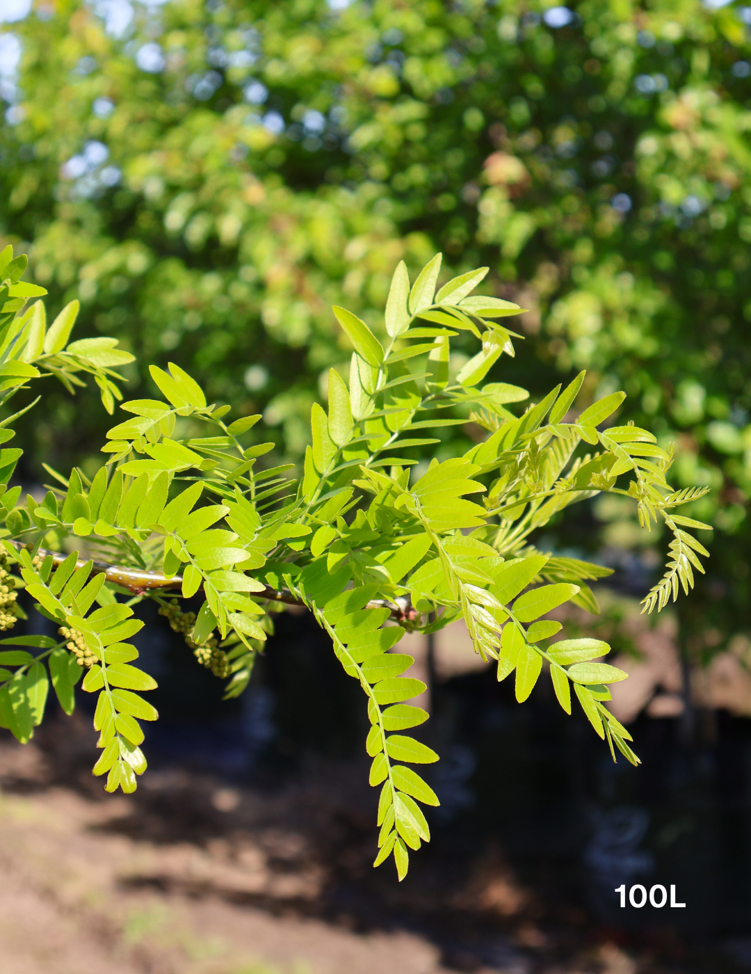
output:
M 443 250 L 446 277 L 487 264 L 488 290 L 530 309 L 499 378 L 537 391 L 588 368 L 582 405 L 623 388 L 619 421 L 676 439 L 678 484 L 714 488 L 695 510 L 719 530 L 682 603 L 688 649 L 748 627 L 751 7 L 8 10 L 0 234 L 53 306 L 78 297 L 84 330 L 262 409 L 297 459 L 351 351 L 330 305 L 375 325 L 399 259 Z M 60 397 L 28 433 L 65 467 L 107 422 Z M 631 514 L 596 509 L 628 547 Z

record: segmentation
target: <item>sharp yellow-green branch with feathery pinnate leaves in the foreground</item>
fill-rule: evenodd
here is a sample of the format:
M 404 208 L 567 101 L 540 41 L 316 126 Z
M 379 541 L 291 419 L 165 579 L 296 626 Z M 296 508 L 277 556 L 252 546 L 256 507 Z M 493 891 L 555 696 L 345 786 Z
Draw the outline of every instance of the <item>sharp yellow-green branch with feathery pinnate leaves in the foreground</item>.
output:
M 564 710 L 571 713 L 573 685 L 614 760 L 618 749 L 638 763 L 630 735 L 604 704 L 607 684 L 626 676 L 596 661 L 610 647 L 595 639 L 549 643 L 561 626 L 544 619 L 567 602 L 597 612 L 586 581 L 609 571 L 545 554 L 535 546 L 535 532 L 597 492 L 632 498 L 645 528 L 660 519 L 674 536 L 665 578 L 645 599 L 645 609 L 661 609 L 679 585 L 689 591 L 694 569 L 703 571 L 696 552 L 706 552 L 684 529 L 706 525 L 676 508 L 704 489 L 671 491 L 665 473 L 672 451 L 659 447 L 650 431 L 606 425 L 624 393 L 604 396 L 575 418 L 583 373 L 521 415 L 512 412 L 508 406 L 528 393 L 484 379 L 500 356 L 513 354 L 518 337 L 498 319 L 521 309 L 471 293 L 487 268 L 436 292 L 440 263 L 437 254 L 413 283 L 399 264 L 385 344 L 361 318 L 334 309 L 354 348 L 349 384 L 332 370 L 328 413 L 319 405 L 312 410 L 313 445 L 301 480 L 287 475 L 292 465 L 262 468 L 264 449 L 244 446 L 260 417 L 229 422 L 229 406 L 207 403 L 201 387 L 174 364 L 169 372 L 151 366 L 163 398 L 122 404 L 128 418 L 107 433 L 107 461 L 93 480 L 78 468 L 69 477 L 51 469 L 56 483 L 44 501 L 27 496 L 19 504 L 20 488 L 7 490 L 7 484 L 20 451 L 0 451 L 1 537 L 6 558 L 19 568 L 14 584 L 25 585 L 61 637 L 0 641 L 41 651 L 0 651 L 0 663 L 14 667 L 0 670 L 0 724 L 27 741 L 42 720 L 48 668 L 66 713 L 86 670 L 82 689 L 98 693 L 94 728 L 102 753 L 94 774 L 107 774 L 108 791 L 131 792 L 146 768 L 138 721 L 158 716 L 139 695 L 156 683 L 131 665 L 138 654 L 127 640 L 143 625 L 132 618 L 132 605 L 142 598 L 159 602 L 199 658 L 228 677 L 226 695 L 236 696 L 281 599 L 314 613 L 367 697 L 370 783 L 382 786 L 375 864 L 393 854 L 399 879 L 407 850 L 430 840 L 417 803 L 437 805 L 428 783 L 408 767 L 437 755 L 401 733 L 428 717 L 405 702 L 425 689 L 402 675 L 413 658 L 388 652 L 406 628 L 432 632 L 463 618 L 475 651 L 497 661 L 498 679 L 515 673 L 520 702 L 545 665 Z M 45 374 L 69 385 L 85 371 L 111 405 L 113 396 L 121 397 L 115 367 L 131 356 L 112 339 L 69 343 L 75 307 L 49 329 L 40 303 L 24 313 L 26 300 L 40 291 L 19 283 L 24 265 L 10 247 L 0 254 L 0 404 Z M 450 346 L 462 332 L 480 349 L 453 381 Z M 433 458 L 422 475 L 412 475 L 415 451 L 439 442 L 431 433 L 465 422 L 445 418 L 446 407 L 469 412 L 487 436 L 464 455 Z M 9 419 L 0 427 L 4 440 L 13 436 L 10 426 Z M 197 435 L 202 432 L 207 435 Z M 57 553 L 73 544 L 67 557 Z M 82 549 L 86 555 L 79 557 Z M 202 592 L 195 618 L 160 594 L 170 587 L 183 598 Z M 390 617 L 399 624 L 384 627 Z

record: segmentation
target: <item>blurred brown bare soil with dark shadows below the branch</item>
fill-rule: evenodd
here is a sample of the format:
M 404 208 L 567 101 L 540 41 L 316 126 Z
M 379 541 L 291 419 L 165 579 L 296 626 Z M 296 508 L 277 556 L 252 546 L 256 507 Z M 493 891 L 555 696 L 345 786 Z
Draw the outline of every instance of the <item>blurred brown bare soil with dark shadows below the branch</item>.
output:
M 0 974 L 733 969 L 664 933 L 593 928 L 560 897 L 551 910 L 498 849 L 429 854 L 401 885 L 373 874 L 359 764 L 277 788 L 150 769 L 135 795 L 110 797 L 91 776 L 92 731 L 73 727 L 0 742 Z

